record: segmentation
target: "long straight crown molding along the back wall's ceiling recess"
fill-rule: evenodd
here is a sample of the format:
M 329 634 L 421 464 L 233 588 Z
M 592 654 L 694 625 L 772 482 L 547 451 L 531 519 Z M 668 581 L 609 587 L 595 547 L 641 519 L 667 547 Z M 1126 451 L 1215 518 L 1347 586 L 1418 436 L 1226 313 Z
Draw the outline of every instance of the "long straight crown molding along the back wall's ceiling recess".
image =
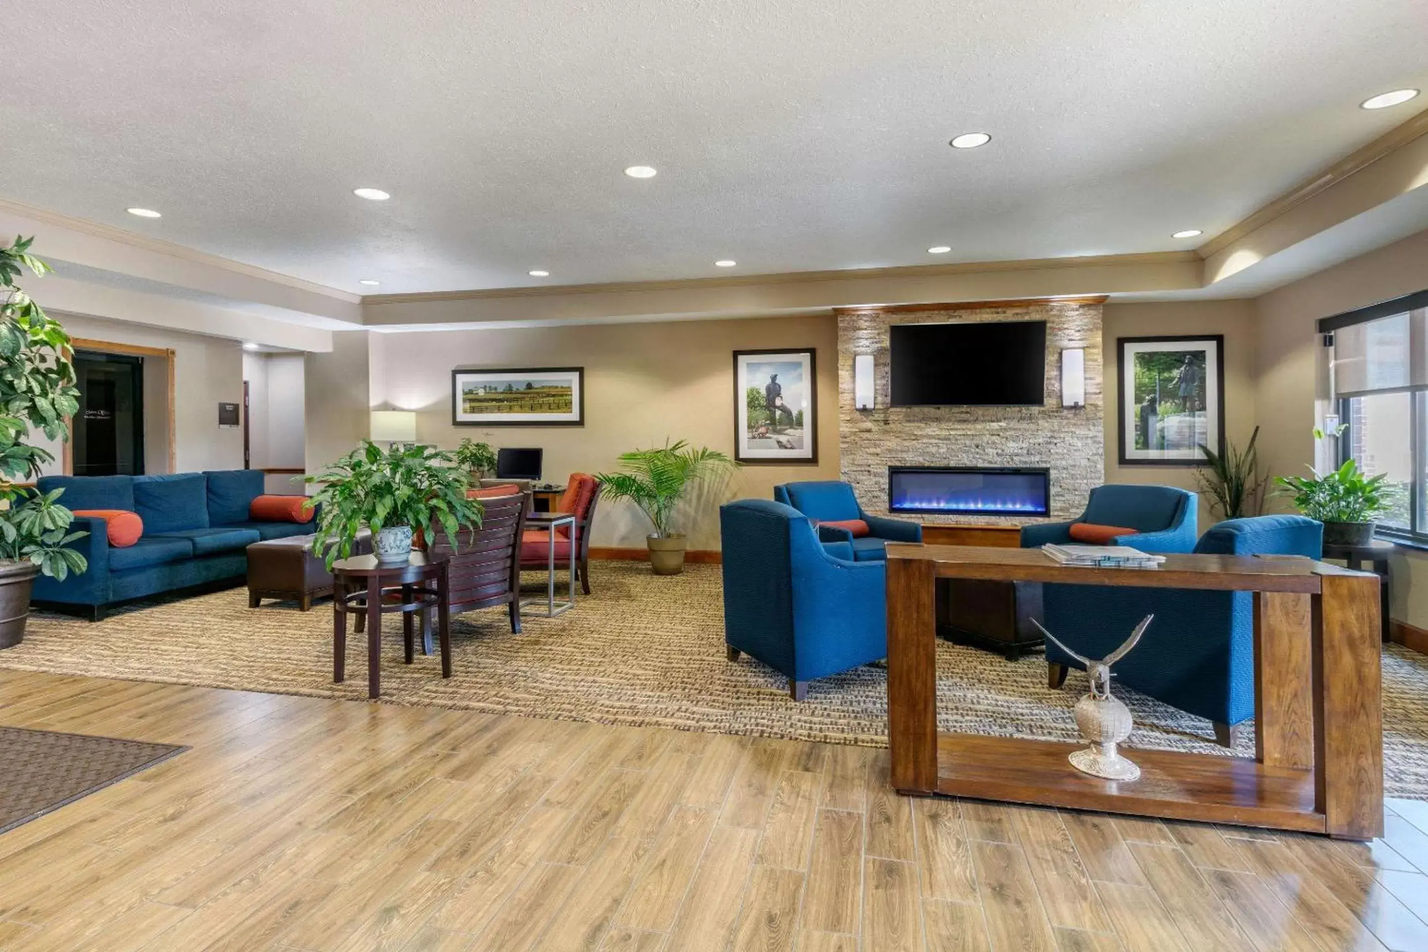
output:
M 557 297 L 567 294 L 623 294 L 628 291 L 688 291 L 757 284 L 810 284 L 850 278 L 917 278 L 945 274 L 988 274 L 997 271 L 1035 271 L 1047 268 L 1102 268 L 1132 264 L 1180 264 L 1200 261 L 1195 251 L 1147 251 L 1138 254 L 1087 254 L 1065 258 L 1028 258 L 1025 261 L 962 261 L 957 264 L 910 264 L 888 268 L 848 268 L 844 271 L 784 271 L 778 274 L 741 274 L 718 278 L 677 278 L 670 281 L 623 281 L 607 284 L 555 284 L 541 287 L 487 288 L 473 291 L 418 291 L 411 294 L 367 294 L 363 304 L 421 304 L 426 301 L 483 301 L 493 298 Z

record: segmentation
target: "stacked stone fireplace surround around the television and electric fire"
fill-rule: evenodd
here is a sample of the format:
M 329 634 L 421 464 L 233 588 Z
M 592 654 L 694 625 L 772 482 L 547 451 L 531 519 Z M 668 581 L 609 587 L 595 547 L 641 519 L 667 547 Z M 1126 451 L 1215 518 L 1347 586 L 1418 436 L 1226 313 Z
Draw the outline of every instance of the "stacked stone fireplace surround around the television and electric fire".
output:
M 841 475 L 870 512 L 947 525 L 1071 520 L 1105 481 L 1101 298 L 835 308 Z M 888 328 L 940 321 L 1047 321 L 1045 400 L 1040 407 L 891 407 Z M 1061 351 L 1085 351 L 1085 405 L 1061 407 Z M 854 408 L 853 358 L 871 354 L 874 408 Z M 888 507 L 892 467 L 1050 471 L 1050 512 L 898 514 Z

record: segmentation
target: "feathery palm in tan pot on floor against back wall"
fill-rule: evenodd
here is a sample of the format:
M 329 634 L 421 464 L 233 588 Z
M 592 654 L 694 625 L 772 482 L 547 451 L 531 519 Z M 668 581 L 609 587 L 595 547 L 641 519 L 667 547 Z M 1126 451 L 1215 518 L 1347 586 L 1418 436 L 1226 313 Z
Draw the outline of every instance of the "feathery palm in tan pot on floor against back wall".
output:
M 623 472 L 601 472 L 595 478 L 611 500 L 630 500 L 654 525 L 645 537 L 650 565 L 655 575 L 684 571 L 684 532 L 674 531 L 674 511 L 697 482 L 738 467 L 725 454 L 680 440 L 655 450 L 634 450 L 620 455 Z

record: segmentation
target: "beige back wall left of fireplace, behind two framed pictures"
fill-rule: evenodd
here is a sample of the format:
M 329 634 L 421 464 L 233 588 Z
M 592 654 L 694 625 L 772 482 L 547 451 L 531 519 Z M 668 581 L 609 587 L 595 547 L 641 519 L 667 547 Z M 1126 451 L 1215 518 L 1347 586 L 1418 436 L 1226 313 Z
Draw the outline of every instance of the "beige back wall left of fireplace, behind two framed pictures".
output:
M 343 334 L 334 335 L 341 338 Z M 718 548 L 718 505 L 771 498 L 777 482 L 838 478 L 837 328 L 828 317 L 617 324 L 503 331 L 373 334 L 371 405 L 417 411 L 417 438 L 456 447 L 544 447 L 545 478 L 611 470 L 625 450 L 688 440 L 733 454 L 733 351 L 814 347 L 818 371 L 818 464 L 748 465 L 694 500 L 684 515 L 690 548 Z M 308 357 L 308 405 L 314 394 Z M 584 367 L 584 427 L 453 427 L 451 370 Z M 317 430 L 310 418 L 308 432 Z M 313 465 L 308 438 L 308 467 Z M 650 531 L 627 504 L 603 504 L 594 545 L 643 548 Z

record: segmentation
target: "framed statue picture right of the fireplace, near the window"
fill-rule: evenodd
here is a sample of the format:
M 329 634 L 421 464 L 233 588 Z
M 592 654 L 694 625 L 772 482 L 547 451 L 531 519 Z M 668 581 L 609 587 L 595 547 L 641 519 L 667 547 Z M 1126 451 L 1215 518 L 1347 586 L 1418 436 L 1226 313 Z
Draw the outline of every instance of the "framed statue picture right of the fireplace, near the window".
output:
M 1225 450 L 1225 338 L 1117 338 L 1121 465 L 1195 467 Z

